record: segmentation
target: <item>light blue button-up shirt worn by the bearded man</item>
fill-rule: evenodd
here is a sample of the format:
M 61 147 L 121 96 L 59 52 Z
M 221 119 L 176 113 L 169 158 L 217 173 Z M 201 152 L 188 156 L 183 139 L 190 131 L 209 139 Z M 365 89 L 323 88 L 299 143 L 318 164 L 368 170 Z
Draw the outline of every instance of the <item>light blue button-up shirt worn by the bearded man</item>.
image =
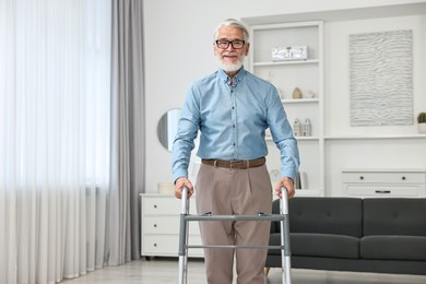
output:
M 267 128 L 280 149 L 282 176 L 295 180 L 299 165 L 297 142 L 271 83 L 244 68 L 232 81 L 218 70 L 194 82 L 173 145 L 174 180 L 188 177 L 190 154 L 199 130 L 199 157 L 239 161 L 268 155 Z

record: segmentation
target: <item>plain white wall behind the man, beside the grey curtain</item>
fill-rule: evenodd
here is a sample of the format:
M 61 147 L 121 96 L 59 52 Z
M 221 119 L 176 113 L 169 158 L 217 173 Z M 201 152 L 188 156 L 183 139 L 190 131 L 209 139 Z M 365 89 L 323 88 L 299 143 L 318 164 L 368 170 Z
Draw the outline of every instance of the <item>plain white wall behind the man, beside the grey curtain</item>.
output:
M 421 2 L 425 1 L 144 0 L 144 63 L 146 95 L 145 191 L 156 192 L 157 182 L 171 181 L 169 166 L 170 153 L 168 153 L 159 144 L 156 138 L 156 125 L 165 111 L 170 108 L 181 107 L 187 88 L 194 80 L 216 70 L 216 62 L 212 47 L 212 33 L 221 21 L 227 17 L 245 19 L 277 14 L 294 15 L 316 11 L 372 8 Z M 339 23 L 336 23 L 335 26 L 330 25 L 328 27 L 328 32 L 338 29 Z M 326 47 L 326 50 L 327 48 L 328 47 Z M 336 71 L 331 69 L 329 72 Z M 423 74 L 425 72 L 423 72 Z M 334 78 L 332 80 L 334 80 Z M 335 78 L 335 80 L 340 81 L 341 78 Z M 333 92 L 336 92 L 335 94 L 339 93 L 339 91 Z M 340 115 L 338 110 L 333 111 L 333 116 Z M 329 129 L 330 131 L 333 131 L 333 128 Z

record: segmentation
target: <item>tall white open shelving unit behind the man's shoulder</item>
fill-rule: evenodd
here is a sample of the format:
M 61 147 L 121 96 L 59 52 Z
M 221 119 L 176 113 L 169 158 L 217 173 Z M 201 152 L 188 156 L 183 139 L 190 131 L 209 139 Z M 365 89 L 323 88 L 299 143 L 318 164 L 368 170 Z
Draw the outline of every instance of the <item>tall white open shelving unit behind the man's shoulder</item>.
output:
M 311 21 L 249 26 L 249 69 L 277 87 L 292 126 L 296 119 L 300 123 L 310 121 L 311 134 L 296 137 L 305 181 L 299 192 L 304 196 L 324 194 L 322 25 L 321 21 Z M 307 46 L 307 59 L 272 61 L 274 47 L 291 46 Z M 293 97 L 296 87 L 301 91 L 301 98 Z M 275 145 L 269 140 L 273 153 Z

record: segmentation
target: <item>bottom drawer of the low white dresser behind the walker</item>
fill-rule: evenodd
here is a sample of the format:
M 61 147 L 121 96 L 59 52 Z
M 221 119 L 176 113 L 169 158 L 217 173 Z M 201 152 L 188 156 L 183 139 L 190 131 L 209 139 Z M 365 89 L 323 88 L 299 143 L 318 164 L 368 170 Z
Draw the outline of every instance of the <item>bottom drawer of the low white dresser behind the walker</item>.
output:
M 201 237 L 190 236 L 189 245 L 201 245 Z M 142 241 L 142 256 L 177 257 L 179 235 L 145 235 Z M 188 257 L 203 257 L 202 249 L 188 249 Z

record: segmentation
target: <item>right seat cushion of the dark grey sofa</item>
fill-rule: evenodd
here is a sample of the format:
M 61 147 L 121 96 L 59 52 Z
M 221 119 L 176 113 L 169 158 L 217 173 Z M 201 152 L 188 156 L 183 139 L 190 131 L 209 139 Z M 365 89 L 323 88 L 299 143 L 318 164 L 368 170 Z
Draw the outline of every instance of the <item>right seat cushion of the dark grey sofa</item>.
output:
M 426 237 L 367 236 L 360 240 L 360 257 L 379 260 L 426 260 Z

